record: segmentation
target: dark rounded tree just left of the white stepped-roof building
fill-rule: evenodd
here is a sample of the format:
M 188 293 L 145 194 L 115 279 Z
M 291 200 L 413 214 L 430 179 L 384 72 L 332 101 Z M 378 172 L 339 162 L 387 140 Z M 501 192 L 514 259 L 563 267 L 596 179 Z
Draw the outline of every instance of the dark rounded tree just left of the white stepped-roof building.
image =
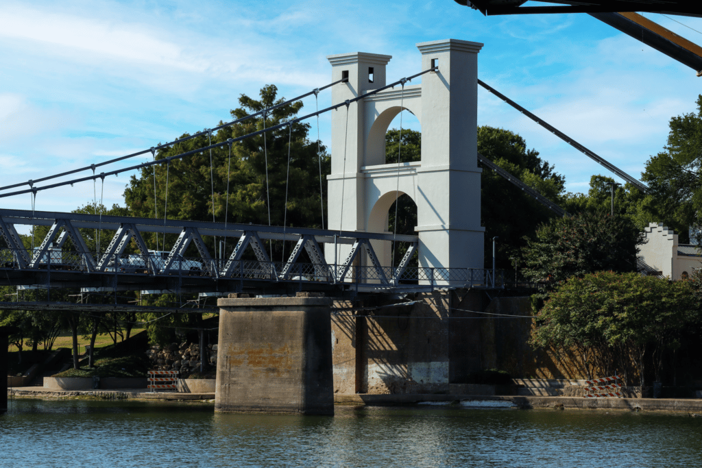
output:
M 604 213 L 578 213 L 552 218 L 526 239 L 524 276 L 559 283 L 571 277 L 611 270 L 635 272 L 642 233 L 629 218 Z

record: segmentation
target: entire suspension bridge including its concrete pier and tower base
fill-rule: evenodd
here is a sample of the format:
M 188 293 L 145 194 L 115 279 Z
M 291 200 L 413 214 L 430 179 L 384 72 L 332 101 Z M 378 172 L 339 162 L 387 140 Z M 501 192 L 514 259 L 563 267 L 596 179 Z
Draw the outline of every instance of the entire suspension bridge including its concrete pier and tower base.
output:
M 6 302 L 4 307 L 185 312 L 180 305 L 141 309 L 139 305 L 118 304 L 117 295 L 125 290 L 179 296 L 253 293 L 257 297 L 218 299 L 215 409 L 220 412 L 329 415 L 333 414 L 335 387 L 336 391 L 364 393 L 372 383 L 392 393 L 392 385 L 402 384 L 408 392 L 446 393 L 451 383 L 465 383 L 468 373 L 484 368 L 482 335 L 476 333 L 479 328 L 472 326 L 475 321 L 470 319 L 530 318 L 486 312 L 485 296 L 515 284 L 505 281 L 503 272 L 494 267 L 484 268 L 482 171 L 496 171 L 557 215 L 567 215 L 537 190 L 478 154 L 477 87 L 483 86 L 635 187 L 644 191 L 646 187 L 479 81 L 477 55 L 482 44 L 447 39 L 417 44 L 417 48 L 423 71 L 391 83 L 385 70 L 390 55 L 330 55 L 331 83 L 281 104 L 312 94 L 317 97 L 329 88 L 336 104 L 306 116 L 212 142 L 213 131 L 225 126 L 253 118 L 265 121 L 273 108 L 263 109 L 159 147 L 0 187 L 0 198 L 32 197 L 30 210 L 0 209 L 0 231 L 6 244 L 0 249 L 0 285 L 46 289 L 46 301 Z M 411 84 L 419 76 L 421 83 Z M 403 162 L 400 146 L 398 162 L 388 164 L 385 135 L 395 116 L 404 111 L 416 116 L 422 127 L 421 159 Z M 287 222 L 284 226 L 232 224 L 226 215 L 219 222 L 214 215 L 211 222 L 168 219 L 167 181 L 172 161 L 218 147 L 228 147 L 231 154 L 232 145 L 257 135 L 263 135 L 266 152 L 267 132 L 288 126 L 291 135 L 293 123 L 327 112 L 331 113 L 333 149 L 331 174 L 327 176 L 327 229 L 289 227 Z M 157 159 L 157 151 L 198 136 L 206 136 L 208 145 Z M 97 173 L 103 166 L 145 154 L 152 154 L 153 161 Z M 265 157 L 267 166 L 267 154 Z M 158 164 L 166 164 L 163 218 L 158 215 L 159 208 L 154 208 L 154 218 L 37 209 L 37 192 L 86 181 L 95 185 L 102 180 L 104 184 L 107 176 Z M 84 171 L 92 174 L 53 181 Z M 155 180 L 154 171 L 157 207 Z M 405 194 L 417 206 L 416 235 L 387 232 L 389 210 Z M 270 207 L 270 199 L 267 202 Z M 225 213 L 228 209 L 227 205 Z M 32 232 L 46 229 L 47 234 L 37 246 L 26 248 L 18 227 Z M 106 246 L 98 243 L 92 250 L 83 237 L 88 230 L 95 232 L 96 238 L 105 230 L 114 235 Z M 145 238 L 159 236 L 164 239 L 164 248 L 166 239 L 175 239 L 169 250 L 159 250 L 158 244 L 149 248 Z M 217 255 L 208 250 L 208 246 L 217 246 L 215 239 L 209 238 L 220 241 Z M 274 261 L 266 248 L 270 242 L 288 243 L 292 246 L 289 256 Z M 397 262 L 393 258 L 396 243 L 406 246 Z M 112 294 L 114 303 L 52 302 L 54 288 L 100 291 L 108 297 Z M 326 297 L 296 294 L 305 292 L 324 293 Z M 343 307 L 350 303 L 350 309 L 345 310 L 352 312 L 332 316 L 340 301 L 347 301 Z M 364 307 L 364 301 L 385 304 Z M 517 302 L 509 302 L 509 307 Z M 406 312 L 384 316 L 379 310 L 398 307 Z M 372 336 L 369 323 L 374 327 Z M 0 328 L 0 335 L 3 333 L 0 340 L 6 340 L 8 330 Z M 369 349 L 372 357 L 366 354 Z

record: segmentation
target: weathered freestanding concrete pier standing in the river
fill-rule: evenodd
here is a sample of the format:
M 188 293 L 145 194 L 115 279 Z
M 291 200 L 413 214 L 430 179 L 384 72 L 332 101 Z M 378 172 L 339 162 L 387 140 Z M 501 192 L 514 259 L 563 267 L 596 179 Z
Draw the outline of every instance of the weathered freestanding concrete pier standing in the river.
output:
M 218 300 L 215 411 L 333 415 L 331 303 L 326 297 Z

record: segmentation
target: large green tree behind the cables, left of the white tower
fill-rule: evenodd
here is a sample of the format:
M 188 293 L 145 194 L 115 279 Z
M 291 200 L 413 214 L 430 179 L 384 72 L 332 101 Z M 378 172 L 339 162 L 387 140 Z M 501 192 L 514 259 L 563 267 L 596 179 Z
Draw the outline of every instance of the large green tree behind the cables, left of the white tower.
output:
M 241 107 L 232 110 L 231 114 L 235 119 L 241 119 L 282 102 L 284 98 L 277 99 L 276 86 L 267 85 L 260 90 L 260 100 L 242 94 L 239 98 Z M 161 149 L 156 159 L 206 147 L 210 141 L 225 142 L 229 138 L 261 131 L 264 127 L 276 126 L 294 119 L 302 107 L 302 102 L 277 107 L 265 118 L 258 116 L 222 128 L 212 135 L 211 140 L 200 135 Z M 318 142 L 308 140 L 309 129 L 309 124 L 297 122 L 269 131 L 265 137 L 262 134 L 246 138 L 231 146 L 231 156 L 227 145 L 213 149 L 212 163 L 210 152 L 206 151 L 173 160 L 170 164 L 143 168 L 140 177 L 133 176 L 126 187 L 126 206 L 135 216 L 154 217 L 157 213 L 161 218 L 167 210 L 168 219 L 212 221 L 214 216 L 218 222 L 227 220 L 258 225 L 269 224 L 270 211 L 272 225 L 322 227 L 320 158 L 325 193 L 324 178 L 331 166 L 325 147 L 321 146 L 318 152 Z M 156 248 L 157 234 L 146 234 L 145 238 L 152 248 Z M 214 239 L 208 237 L 204 241 L 214 251 Z M 282 244 L 279 244 L 277 250 L 281 249 Z

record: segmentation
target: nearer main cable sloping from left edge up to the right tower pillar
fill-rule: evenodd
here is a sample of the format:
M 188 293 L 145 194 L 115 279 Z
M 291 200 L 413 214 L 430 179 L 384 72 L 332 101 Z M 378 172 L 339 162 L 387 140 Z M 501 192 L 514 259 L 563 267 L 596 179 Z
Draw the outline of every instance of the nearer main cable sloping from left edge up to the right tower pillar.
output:
M 407 80 L 407 81 L 409 81 L 409 80 L 411 80 L 411 79 L 413 79 L 413 78 L 416 78 L 417 76 L 421 76 L 421 75 L 423 75 L 423 74 L 425 74 L 425 73 L 433 72 L 433 71 L 435 71 L 436 69 L 437 69 L 437 67 L 432 67 L 432 68 L 430 68 L 430 69 L 426 69 L 426 70 L 424 70 L 423 72 L 419 72 L 419 73 L 417 73 L 417 74 L 413 74 L 412 76 L 409 76 L 409 77 L 404 78 L 404 79 Z M 345 102 L 340 102 L 339 104 L 335 104 L 335 105 L 332 105 L 332 106 L 330 106 L 330 107 L 326 107 L 326 109 L 322 109 L 321 111 L 312 112 L 311 114 L 307 114 L 307 115 L 305 115 L 305 116 L 301 116 L 301 117 L 298 117 L 298 118 L 296 118 L 296 119 L 292 119 L 292 120 L 290 120 L 290 121 L 286 121 L 286 122 L 284 122 L 284 123 L 279 123 L 279 124 L 274 125 L 274 126 L 272 126 L 272 127 L 266 128 L 265 130 L 260 130 L 260 131 L 256 131 L 256 132 L 253 132 L 253 133 L 248 133 L 248 134 L 246 134 L 246 135 L 242 135 L 242 136 L 237 137 L 237 138 L 233 138 L 233 139 L 231 139 L 231 141 L 232 141 L 232 142 L 239 142 L 239 141 L 241 141 L 241 140 L 245 140 L 246 138 L 251 138 L 251 137 L 254 137 L 254 136 L 256 136 L 256 135 L 260 135 L 260 134 L 265 133 L 265 132 L 268 132 L 268 131 L 277 130 L 278 128 L 282 128 L 282 127 L 288 125 L 289 123 L 297 123 L 297 122 L 300 122 L 300 121 L 303 121 L 303 120 L 306 120 L 306 119 L 310 119 L 310 118 L 312 118 L 312 117 L 314 117 L 314 116 L 317 116 L 317 115 L 320 115 L 320 114 L 324 114 L 325 112 L 329 112 L 329 111 L 331 111 L 331 110 L 338 109 L 339 107 L 341 107 L 341 106 L 343 106 L 343 105 L 347 105 L 347 102 L 350 104 L 351 102 L 356 102 L 356 101 L 362 100 L 362 99 L 367 98 L 367 97 L 369 97 L 369 96 L 371 96 L 371 95 L 374 95 L 374 94 L 376 94 L 376 93 L 380 93 L 380 91 L 385 91 L 385 90 L 388 89 L 388 88 L 393 88 L 393 87 L 395 87 L 395 86 L 398 86 L 400 83 L 402 83 L 402 80 L 395 81 L 395 83 L 390 83 L 390 84 L 388 84 L 388 85 L 386 85 L 386 86 L 383 86 L 382 88 L 374 89 L 373 91 L 369 91 L 368 93 L 359 95 L 359 96 L 357 96 L 356 98 L 353 98 L 353 99 L 350 99 L 350 100 L 346 100 Z M 258 113 L 257 113 L 257 114 L 258 114 Z M 227 140 L 227 141 L 228 141 L 228 140 Z M 215 143 L 214 145 L 209 145 L 209 146 L 207 146 L 207 147 L 203 147 L 203 148 L 199 148 L 199 149 L 192 149 L 192 150 L 187 151 L 187 152 L 185 152 L 185 153 L 176 154 L 176 156 L 168 156 L 168 158 L 164 158 L 164 159 L 168 159 L 168 161 L 171 161 L 171 160 L 173 160 L 173 159 L 183 159 L 183 158 L 185 158 L 186 156 L 191 156 L 192 154 L 202 153 L 202 152 L 204 152 L 204 151 L 206 151 L 207 149 L 210 149 L 210 148 L 223 147 L 224 145 L 227 145 L 227 144 L 228 144 L 227 142 Z M 118 175 L 118 174 L 123 173 L 123 172 L 135 171 L 136 169 L 140 169 L 140 168 L 145 168 L 145 167 L 153 166 L 154 164 L 158 164 L 158 163 L 161 163 L 161 162 L 163 162 L 163 161 L 159 159 L 159 161 L 150 161 L 150 162 L 147 162 L 147 163 L 141 163 L 141 164 L 137 164 L 137 165 L 135 165 L 135 166 L 130 166 L 130 167 L 128 167 L 128 168 L 116 169 L 115 171 L 110 171 L 110 172 L 107 172 L 107 173 L 104 173 L 104 174 L 105 174 L 105 175 Z M 97 165 L 95 165 L 95 166 L 97 167 Z M 44 185 L 44 187 L 33 187 L 32 189 L 18 190 L 18 191 L 16 191 L 16 192 L 9 192 L 9 193 L 6 193 L 6 194 L 0 194 L 0 198 L 6 198 L 6 197 L 8 197 L 8 196 L 15 196 L 15 195 L 20 195 L 20 194 L 26 194 L 26 193 L 32 192 L 33 190 L 53 189 L 53 188 L 55 188 L 55 187 L 62 187 L 62 186 L 64 186 L 64 185 L 74 184 L 74 183 L 77 183 L 77 182 L 84 182 L 84 181 L 86 181 L 86 180 L 94 180 L 96 177 L 100 177 L 100 176 L 98 176 L 98 175 L 93 175 L 93 176 L 88 176 L 88 177 L 79 178 L 79 179 L 74 179 L 74 180 L 66 180 L 65 182 L 56 182 L 55 184 Z M 13 186 L 13 187 L 16 187 L 16 185 Z

